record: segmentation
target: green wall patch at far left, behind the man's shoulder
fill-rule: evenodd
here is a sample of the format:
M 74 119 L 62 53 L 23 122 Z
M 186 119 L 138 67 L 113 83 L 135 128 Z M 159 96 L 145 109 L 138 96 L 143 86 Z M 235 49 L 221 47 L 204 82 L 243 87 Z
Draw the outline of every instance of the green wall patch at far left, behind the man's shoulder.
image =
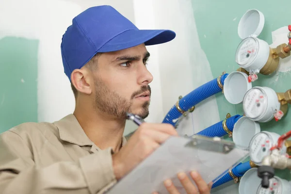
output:
M 0 132 L 37 122 L 38 40 L 0 39 Z

